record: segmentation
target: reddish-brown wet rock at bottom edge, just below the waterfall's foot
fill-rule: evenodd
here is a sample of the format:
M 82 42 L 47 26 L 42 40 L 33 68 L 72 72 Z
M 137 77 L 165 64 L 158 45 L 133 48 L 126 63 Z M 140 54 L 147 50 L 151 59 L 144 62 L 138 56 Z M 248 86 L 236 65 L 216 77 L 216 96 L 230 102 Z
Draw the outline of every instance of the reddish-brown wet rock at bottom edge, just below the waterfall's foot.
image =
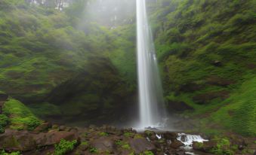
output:
M 155 152 L 156 146 L 147 141 L 146 138 L 134 138 L 129 140 L 129 144 L 131 149 L 134 150 L 135 153 L 142 153 L 145 150 L 150 150 Z

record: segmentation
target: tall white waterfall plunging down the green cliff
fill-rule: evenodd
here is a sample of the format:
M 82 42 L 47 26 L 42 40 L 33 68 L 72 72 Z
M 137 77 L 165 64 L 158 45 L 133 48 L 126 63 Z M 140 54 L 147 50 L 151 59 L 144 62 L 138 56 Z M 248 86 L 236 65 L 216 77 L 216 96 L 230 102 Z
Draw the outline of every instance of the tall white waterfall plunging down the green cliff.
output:
M 140 128 L 161 123 L 163 96 L 153 36 L 148 24 L 146 0 L 137 0 L 137 76 Z

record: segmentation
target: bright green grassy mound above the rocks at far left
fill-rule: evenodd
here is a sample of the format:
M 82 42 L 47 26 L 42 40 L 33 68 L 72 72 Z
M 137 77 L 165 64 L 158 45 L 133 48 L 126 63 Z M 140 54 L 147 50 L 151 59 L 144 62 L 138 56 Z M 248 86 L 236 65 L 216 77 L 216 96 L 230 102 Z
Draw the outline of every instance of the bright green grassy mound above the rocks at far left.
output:
M 10 125 L 12 129 L 29 129 L 33 130 L 41 124 L 41 120 L 35 117 L 29 108 L 16 99 L 10 99 L 5 102 L 3 108 L 4 114 L 10 117 Z

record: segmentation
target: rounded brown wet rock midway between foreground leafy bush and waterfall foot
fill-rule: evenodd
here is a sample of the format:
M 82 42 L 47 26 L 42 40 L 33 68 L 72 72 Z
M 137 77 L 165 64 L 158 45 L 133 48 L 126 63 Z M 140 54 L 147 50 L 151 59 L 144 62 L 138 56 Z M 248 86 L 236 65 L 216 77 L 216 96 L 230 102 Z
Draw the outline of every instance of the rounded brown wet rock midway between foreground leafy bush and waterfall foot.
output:
M 91 147 L 96 148 L 100 151 L 113 151 L 114 150 L 115 141 L 109 137 L 100 137 L 91 141 Z

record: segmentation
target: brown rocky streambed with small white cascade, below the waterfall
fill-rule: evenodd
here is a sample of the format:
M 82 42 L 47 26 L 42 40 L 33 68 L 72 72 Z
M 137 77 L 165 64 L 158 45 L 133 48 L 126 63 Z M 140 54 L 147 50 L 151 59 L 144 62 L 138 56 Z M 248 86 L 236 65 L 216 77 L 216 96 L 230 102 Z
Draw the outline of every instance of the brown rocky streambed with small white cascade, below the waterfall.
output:
M 193 137 L 194 136 L 194 137 Z M 62 139 L 76 141 L 72 150 L 63 154 L 208 154 L 217 146 L 216 141 L 205 141 L 198 135 L 179 134 L 134 129 L 117 129 L 113 126 L 89 126 L 71 128 L 42 123 L 33 131 L 6 129 L 0 134 L 0 149 L 6 152 L 20 151 L 22 154 L 56 154 L 56 146 Z M 199 142 L 195 142 L 198 140 Z M 200 142 L 204 142 L 204 144 Z M 234 143 L 234 141 L 232 141 Z M 246 147 L 239 138 L 236 144 Z M 194 149 L 193 149 L 194 148 Z M 246 153 L 241 153 L 246 154 Z M 249 153 L 248 153 L 249 154 Z

